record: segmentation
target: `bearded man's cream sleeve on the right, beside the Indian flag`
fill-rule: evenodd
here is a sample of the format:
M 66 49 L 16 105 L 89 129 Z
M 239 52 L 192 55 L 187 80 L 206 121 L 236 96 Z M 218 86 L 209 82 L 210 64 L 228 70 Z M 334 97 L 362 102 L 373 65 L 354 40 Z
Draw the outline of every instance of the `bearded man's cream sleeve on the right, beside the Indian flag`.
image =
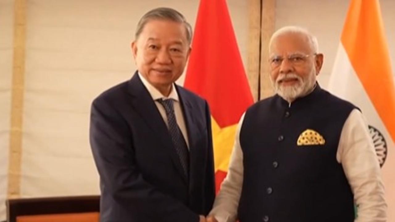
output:
M 387 205 L 380 165 L 366 120 L 357 109 L 344 123 L 337 161 L 354 193 L 358 215 L 355 222 L 385 222 Z

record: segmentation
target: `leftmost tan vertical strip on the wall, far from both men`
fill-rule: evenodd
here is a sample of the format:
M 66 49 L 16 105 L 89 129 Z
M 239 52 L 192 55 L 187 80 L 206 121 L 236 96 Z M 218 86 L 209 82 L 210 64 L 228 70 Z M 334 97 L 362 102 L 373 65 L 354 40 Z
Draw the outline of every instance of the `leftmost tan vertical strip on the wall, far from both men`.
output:
M 26 42 L 26 0 L 15 0 L 14 51 L 11 85 L 11 132 L 9 139 L 8 197 L 21 194 L 23 94 Z

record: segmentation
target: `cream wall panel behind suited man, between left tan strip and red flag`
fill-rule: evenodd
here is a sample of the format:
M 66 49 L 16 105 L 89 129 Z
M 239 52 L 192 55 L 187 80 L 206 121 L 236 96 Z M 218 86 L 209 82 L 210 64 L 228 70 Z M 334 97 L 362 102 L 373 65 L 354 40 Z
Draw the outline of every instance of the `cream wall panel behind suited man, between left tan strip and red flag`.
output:
M 90 103 L 131 77 L 130 41 L 143 13 L 170 6 L 194 23 L 198 1 L 180 3 L 28 1 L 22 196 L 98 194 Z

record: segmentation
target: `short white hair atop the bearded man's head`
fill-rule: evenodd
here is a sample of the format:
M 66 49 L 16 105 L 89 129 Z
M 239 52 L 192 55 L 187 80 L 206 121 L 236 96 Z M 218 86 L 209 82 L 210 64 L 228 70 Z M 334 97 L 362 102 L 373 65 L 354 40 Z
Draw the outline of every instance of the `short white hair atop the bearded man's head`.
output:
M 293 37 L 293 39 L 298 39 L 299 42 L 303 43 L 302 47 L 308 47 L 310 53 L 318 53 L 318 41 L 315 36 L 313 36 L 306 29 L 299 26 L 284 26 L 278 29 L 270 38 L 269 41 L 269 53 L 273 52 L 273 47 L 275 47 L 275 42 L 282 37 Z

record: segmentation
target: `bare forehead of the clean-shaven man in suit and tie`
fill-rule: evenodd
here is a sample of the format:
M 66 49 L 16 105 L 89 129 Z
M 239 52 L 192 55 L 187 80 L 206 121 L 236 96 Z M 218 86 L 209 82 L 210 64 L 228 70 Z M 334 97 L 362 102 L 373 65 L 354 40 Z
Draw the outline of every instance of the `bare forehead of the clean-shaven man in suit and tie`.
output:
M 139 39 L 158 41 L 187 41 L 184 24 L 171 20 L 150 20 L 139 36 Z

